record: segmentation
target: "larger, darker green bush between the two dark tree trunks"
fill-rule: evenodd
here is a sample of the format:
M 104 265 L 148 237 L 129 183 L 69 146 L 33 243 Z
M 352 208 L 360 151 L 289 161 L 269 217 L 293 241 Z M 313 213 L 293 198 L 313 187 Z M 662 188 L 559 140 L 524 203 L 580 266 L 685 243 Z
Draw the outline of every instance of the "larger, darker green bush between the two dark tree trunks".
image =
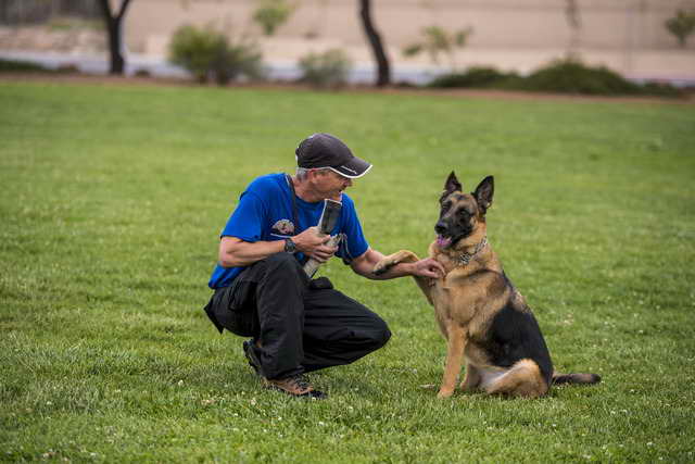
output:
M 214 77 L 224 85 L 240 75 L 262 77 L 262 55 L 254 43 L 230 43 L 211 27 L 179 27 L 169 43 L 169 61 L 190 72 L 200 83 Z

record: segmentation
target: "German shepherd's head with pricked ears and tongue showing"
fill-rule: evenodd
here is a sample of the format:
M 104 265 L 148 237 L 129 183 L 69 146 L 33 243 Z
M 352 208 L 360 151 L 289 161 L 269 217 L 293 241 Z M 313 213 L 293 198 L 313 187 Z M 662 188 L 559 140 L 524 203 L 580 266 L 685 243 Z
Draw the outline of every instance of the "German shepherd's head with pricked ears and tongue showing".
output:
M 452 171 L 444 184 L 439 202 L 442 206 L 434 226 L 437 244 L 442 249 L 456 244 L 485 228 L 485 212 L 492 205 L 494 178 L 488 176 L 476 187 L 476 191 L 464 193 L 464 188 Z

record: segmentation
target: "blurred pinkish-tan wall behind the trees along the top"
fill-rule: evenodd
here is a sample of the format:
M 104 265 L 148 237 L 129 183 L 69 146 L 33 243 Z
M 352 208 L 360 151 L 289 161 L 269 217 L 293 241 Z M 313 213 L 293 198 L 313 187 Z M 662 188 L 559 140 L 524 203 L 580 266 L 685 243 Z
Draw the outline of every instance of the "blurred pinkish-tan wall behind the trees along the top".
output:
M 301 0 L 278 36 L 315 37 L 363 45 L 356 0 Z M 375 18 L 388 42 L 400 47 L 421 27 L 472 26 L 471 47 L 528 48 L 563 45 L 570 28 L 564 0 L 377 0 Z M 591 48 L 671 49 L 664 22 L 693 0 L 578 0 L 582 45 Z M 181 22 L 216 22 L 248 30 L 254 0 L 134 0 L 128 38 L 143 47 L 152 35 L 168 35 Z M 694 40 L 695 41 L 695 40 Z M 694 46 L 691 45 L 691 48 Z

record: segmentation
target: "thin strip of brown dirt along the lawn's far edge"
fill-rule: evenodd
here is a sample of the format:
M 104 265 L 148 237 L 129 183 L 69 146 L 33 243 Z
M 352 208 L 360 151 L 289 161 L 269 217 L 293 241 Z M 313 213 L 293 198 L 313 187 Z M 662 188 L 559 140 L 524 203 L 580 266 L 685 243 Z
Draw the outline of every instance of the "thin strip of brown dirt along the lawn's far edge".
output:
M 121 77 L 91 75 L 81 73 L 1 73 L 0 81 L 33 81 L 46 84 L 74 84 L 74 85 L 104 85 L 104 86 L 167 86 L 167 87 L 201 87 L 201 85 L 180 78 L 165 77 Z M 215 85 L 207 87 L 217 88 Z M 296 90 L 315 91 L 315 89 L 292 83 L 263 83 L 263 84 L 235 84 L 227 86 L 229 89 L 268 89 L 268 90 Z M 326 90 L 329 92 L 329 90 Z M 448 98 L 475 98 L 488 100 L 516 100 L 516 101 L 566 101 L 566 102 L 605 102 L 605 103 L 649 103 L 649 104 L 693 104 L 695 95 L 691 93 L 681 99 L 668 99 L 658 97 L 597 97 L 597 96 L 569 96 L 561 93 L 536 93 L 508 90 L 479 90 L 479 89 L 418 89 L 403 87 L 375 88 L 370 86 L 349 86 L 339 90 L 330 90 L 338 93 L 383 93 L 403 96 L 437 96 Z

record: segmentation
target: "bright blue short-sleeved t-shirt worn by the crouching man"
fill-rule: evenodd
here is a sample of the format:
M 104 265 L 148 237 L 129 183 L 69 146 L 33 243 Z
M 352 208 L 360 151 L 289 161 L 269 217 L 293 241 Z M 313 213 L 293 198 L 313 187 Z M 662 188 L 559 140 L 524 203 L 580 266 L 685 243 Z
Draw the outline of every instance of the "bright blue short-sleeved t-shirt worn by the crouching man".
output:
M 237 237 L 243 241 L 285 240 L 318 225 L 324 202 L 309 203 L 296 199 L 296 220 L 292 213 L 292 190 L 287 176 L 282 173 L 268 174 L 256 178 L 241 193 L 237 209 L 231 213 L 220 237 Z M 355 211 L 355 204 L 345 193 L 342 195 L 343 208 L 332 233 L 344 234 L 343 242 L 336 255 L 352 259 L 362 255 L 369 247 L 362 231 L 362 225 Z M 296 258 L 302 260 L 302 253 Z M 217 263 L 207 286 L 227 287 L 245 267 L 223 267 Z

